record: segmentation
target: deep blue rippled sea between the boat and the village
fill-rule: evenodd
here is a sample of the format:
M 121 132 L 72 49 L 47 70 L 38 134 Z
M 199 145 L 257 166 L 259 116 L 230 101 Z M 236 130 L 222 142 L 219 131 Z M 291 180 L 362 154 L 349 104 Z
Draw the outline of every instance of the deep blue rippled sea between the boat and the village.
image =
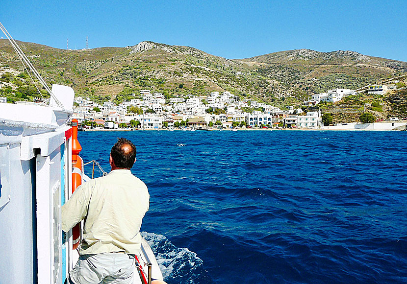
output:
M 108 171 L 118 137 L 169 284 L 407 283 L 407 132 L 80 132 L 80 155 Z

